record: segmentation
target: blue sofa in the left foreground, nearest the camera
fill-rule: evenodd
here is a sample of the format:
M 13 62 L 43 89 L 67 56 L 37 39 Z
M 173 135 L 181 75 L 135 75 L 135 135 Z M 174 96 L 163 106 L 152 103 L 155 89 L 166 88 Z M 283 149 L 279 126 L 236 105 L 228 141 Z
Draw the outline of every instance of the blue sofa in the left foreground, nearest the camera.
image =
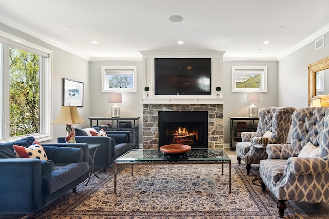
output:
M 29 147 L 30 136 L 0 143 L 0 214 L 30 214 L 49 205 L 89 176 L 88 144 L 41 144 L 47 161 L 15 158 L 13 145 Z

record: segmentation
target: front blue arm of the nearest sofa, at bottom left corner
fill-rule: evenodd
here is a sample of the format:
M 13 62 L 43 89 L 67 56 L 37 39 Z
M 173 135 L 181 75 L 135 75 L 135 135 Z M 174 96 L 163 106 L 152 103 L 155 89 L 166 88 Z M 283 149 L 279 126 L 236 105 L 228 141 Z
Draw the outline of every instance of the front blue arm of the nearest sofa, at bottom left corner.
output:
M 0 159 L 0 214 L 42 209 L 42 165 L 38 159 Z

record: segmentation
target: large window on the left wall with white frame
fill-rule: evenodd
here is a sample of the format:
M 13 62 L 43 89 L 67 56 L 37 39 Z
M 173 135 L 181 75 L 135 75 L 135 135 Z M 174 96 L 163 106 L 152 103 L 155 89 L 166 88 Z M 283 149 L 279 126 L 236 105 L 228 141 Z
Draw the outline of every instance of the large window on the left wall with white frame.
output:
M 51 139 L 52 52 L 0 32 L 0 141 Z

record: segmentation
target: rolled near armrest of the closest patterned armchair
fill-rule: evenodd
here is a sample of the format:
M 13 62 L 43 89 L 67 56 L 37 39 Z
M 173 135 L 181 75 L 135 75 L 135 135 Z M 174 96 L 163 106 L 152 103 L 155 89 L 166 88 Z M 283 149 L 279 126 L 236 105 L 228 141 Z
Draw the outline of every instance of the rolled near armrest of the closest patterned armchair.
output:
M 321 157 L 290 157 L 285 172 L 294 175 L 312 175 L 327 171 L 329 161 Z

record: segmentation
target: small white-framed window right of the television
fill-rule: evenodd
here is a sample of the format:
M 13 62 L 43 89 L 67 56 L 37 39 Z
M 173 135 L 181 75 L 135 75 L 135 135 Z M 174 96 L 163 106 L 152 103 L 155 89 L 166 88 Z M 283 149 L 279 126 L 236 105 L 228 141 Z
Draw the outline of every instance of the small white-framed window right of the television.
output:
M 267 92 L 267 66 L 233 66 L 232 92 Z

